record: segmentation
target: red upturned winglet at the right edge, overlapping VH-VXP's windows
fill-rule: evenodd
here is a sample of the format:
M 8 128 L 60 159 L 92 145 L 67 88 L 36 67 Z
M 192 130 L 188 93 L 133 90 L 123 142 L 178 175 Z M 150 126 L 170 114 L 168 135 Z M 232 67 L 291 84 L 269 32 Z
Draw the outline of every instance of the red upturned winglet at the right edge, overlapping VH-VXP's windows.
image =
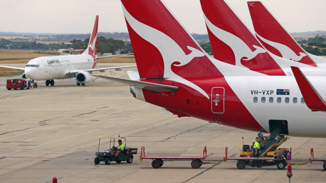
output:
M 326 112 L 326 102 L 307 77 L 304 76 L 299 67 L 291 66 L 291 69 L 307 107 L 312 111 Z

